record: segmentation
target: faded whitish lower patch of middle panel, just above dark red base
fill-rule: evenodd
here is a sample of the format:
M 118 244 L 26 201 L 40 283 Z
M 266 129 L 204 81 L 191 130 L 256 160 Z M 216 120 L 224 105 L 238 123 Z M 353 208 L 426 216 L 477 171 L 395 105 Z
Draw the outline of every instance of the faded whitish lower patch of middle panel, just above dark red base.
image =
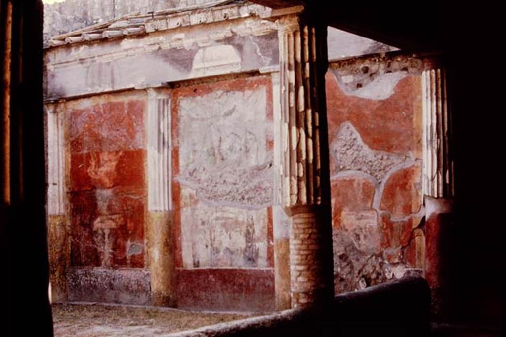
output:
M 195 198 L 183 186 L 182 200 Z M 267 212 L 203 204 L 181 209 L 183 265 L 191 268 L 266 268 Z

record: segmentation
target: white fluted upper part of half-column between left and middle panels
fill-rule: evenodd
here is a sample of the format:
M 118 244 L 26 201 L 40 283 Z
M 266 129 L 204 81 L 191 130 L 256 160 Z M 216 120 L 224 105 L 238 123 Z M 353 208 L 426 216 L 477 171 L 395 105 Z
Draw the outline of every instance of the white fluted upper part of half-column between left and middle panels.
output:
M 172 209 L 171 100 L 148 91 L 148 210 Z

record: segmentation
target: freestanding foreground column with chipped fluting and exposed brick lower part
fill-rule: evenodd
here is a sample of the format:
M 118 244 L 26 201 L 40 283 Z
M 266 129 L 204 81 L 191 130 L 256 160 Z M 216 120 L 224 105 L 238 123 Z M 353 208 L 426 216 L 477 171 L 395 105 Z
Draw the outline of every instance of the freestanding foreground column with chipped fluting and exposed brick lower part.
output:
M 290 216 L 291 306 L 332 299 L 332 239 L 325 73 L 326 26 L 278 20 L 281 205 Z

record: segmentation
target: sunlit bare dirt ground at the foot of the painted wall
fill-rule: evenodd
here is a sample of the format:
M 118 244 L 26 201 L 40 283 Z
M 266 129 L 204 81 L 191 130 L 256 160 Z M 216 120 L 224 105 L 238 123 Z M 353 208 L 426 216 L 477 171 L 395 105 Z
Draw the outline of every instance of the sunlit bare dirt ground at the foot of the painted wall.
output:
M 250 317 L 177 309 L 53 304 L 55 336 L 152 336 Z

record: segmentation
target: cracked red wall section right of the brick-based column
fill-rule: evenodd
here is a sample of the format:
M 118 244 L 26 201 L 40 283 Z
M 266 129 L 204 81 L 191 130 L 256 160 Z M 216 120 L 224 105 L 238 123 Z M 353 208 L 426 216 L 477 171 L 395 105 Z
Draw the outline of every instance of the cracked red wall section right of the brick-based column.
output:
M 369 57 L 333 63 L 327 73 L 336 293 L 424 267 L 423 66 Z

